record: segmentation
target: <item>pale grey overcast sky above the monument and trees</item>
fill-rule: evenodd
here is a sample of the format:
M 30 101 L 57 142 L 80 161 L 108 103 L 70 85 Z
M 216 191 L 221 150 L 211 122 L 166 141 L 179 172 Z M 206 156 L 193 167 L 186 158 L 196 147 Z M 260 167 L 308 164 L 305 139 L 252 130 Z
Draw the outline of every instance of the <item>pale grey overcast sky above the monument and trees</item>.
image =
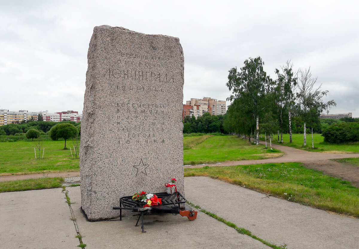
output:
M 180 38 L 183 101 L 225 100 L 228 70 L 261 56 L 265 71 L 311 67 L 330 113 L 359 117 L 358 1 L 0 0 L 0 109 L 82 113 L 93 28 Z M 227 105 L 229 102 L 227 102 Z

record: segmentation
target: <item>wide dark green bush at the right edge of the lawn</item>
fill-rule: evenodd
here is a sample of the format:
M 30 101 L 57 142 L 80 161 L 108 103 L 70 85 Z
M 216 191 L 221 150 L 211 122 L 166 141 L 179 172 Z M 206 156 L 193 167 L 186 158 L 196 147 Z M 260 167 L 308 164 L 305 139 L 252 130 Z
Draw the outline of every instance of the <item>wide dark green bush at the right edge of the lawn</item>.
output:
M 359 141 L 359 123 L 332 124 L 323 129 L 325 142 L 340 144 Z

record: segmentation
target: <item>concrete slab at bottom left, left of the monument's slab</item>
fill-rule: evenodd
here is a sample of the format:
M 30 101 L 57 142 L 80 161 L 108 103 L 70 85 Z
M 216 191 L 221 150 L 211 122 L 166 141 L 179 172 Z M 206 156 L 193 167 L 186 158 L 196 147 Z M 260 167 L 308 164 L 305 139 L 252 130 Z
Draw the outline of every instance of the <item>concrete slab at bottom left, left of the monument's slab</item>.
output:
M 0 193 L 0 248 L 77 248 L 80 243 L 61 191 Z

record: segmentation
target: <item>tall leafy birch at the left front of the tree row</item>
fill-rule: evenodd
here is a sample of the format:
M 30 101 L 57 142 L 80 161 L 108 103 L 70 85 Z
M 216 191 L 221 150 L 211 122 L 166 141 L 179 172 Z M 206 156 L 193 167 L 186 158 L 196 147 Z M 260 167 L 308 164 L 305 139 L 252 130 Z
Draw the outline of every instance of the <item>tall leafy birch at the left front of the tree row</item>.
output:
M 263 69 L 264 62 L 261 57 L 249 58 L 244 61 L 241 71 L 237 67 L 229 70 L 227 86 L 232 90 L 227 100 L 237 102 L 246 110 L 246 118 L 256 121 L 256 144 L 259 143 L 259 118 L 265 113 L 265 108 L 271 103 L 268 94 L 272 91 L 273 80 L 267 76 Z

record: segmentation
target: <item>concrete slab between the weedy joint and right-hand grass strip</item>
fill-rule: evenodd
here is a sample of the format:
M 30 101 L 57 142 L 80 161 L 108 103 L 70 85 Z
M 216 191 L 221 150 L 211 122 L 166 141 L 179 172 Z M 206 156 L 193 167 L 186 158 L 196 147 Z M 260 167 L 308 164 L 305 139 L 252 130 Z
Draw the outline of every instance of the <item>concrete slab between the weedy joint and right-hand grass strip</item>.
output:
M 186 198 L 272 244 L 359 248 L 359 219 L 327 213 L 208 177 L 186 177 Z

